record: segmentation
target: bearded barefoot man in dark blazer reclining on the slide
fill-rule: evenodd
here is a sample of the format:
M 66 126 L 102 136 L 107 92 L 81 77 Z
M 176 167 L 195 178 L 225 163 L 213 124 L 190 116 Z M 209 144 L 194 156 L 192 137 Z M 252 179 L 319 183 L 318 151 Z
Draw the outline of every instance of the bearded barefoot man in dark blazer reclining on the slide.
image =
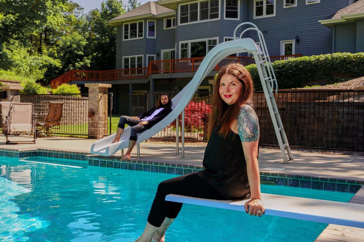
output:
M 120 136 L 124 132 L 125 124 L 131 126 L 129 147 L 126 154 L 121 158 L 121 160 L 126 160 L 130 158 L 132 149 L 135 143 L 137 143 L 137 134 L 146 131 L 147 129 L 154 126 L 154 124 L 161 121 L 165 116 L 167 116 L 171 111 L 172 101 L 168 94 L 162 93 L 159 96 L 157 105 L 151 110 L 143 112 L 137 117 L 121 116 L 119 119 L 118 128 L 116 130 L 116 136 L 112 143 L 119 142 Z

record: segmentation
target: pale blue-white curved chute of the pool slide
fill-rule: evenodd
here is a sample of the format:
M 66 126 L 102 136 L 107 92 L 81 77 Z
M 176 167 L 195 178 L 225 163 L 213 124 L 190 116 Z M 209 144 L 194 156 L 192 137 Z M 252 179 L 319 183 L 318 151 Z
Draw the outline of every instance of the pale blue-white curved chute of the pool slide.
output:
M 223 58 L 231 54 L 242 52 L 248 52 L 249 54 L 254 55 L 256 53 L 260 53 L 261 50 L 251 38 L 222 42 L 211 49 L 205 58 L 203 58 L 203 61 L 201 62 L 201 65 L 199 66 L 192 80 L 172 99 L 172 112 L 170 112 L 169 115 L 155 124 L 149 130 L 138 134 L 136 144 L 149 139 L 172 123 L 187 106 L 202 80 L 220 61 L 223 60 Z M 111 142 L 115 139 L 115 134 L 96 141 L 94 144 L 92 144 L 91 153 L 102 156 L 111 156 L 120 149 L 128 148 L 130 128 L 131 127 L 126 127 L 124 129 L 119 142 L 111 144 Z

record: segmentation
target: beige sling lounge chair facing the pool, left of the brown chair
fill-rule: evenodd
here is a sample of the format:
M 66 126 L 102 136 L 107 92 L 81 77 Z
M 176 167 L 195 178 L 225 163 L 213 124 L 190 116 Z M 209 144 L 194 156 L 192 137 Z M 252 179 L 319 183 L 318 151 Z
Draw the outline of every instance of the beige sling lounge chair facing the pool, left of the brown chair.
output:
M 6 143 L 7 144 L 35 144 L 36 130 L 33 114 L 33 103 L 10 103 L 9 116 L 6 119 Z M 10 141 L 9 135 L 33 136 L 32 141 Z

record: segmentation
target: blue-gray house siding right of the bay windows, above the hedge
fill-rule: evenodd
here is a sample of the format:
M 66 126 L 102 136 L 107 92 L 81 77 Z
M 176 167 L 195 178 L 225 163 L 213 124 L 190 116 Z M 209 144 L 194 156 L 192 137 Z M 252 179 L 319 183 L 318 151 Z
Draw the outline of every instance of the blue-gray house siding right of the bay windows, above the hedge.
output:
M 297 7 L 283 8 L 283 0 L 278 0 L 276 16 L 253 19 L 252 0 L 249 21 L 261 30 L 268 30 L 264 38 L 270 56 L 280 55 L 281 41 L 294 40 L 296 36 L 299 38 L 296 54 L 327 54 L 332 53 L 332 29 L 320 24 L 318 20 L 323 20 L 346 6 L 344 0 L 321 0 L 320 3 L 309 5 L 305 1 L 298 1 Z M 250 37 L 254 38 L 254 35 Z

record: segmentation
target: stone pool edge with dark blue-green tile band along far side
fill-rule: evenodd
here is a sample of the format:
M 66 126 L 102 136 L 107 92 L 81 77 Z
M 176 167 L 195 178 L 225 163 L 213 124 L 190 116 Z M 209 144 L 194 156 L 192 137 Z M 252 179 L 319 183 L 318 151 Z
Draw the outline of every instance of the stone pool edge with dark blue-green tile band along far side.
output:
M 174 175 L 186 175 L 200 171 L 202 165 L 186 164 L 183 162 L 165 162 L 158 160 L 130 159 L 122 161 L 120 156 L 100 156 L 86 151 L 72 149 L 55 149 L 44 147 L 32 148 L 0 148 L 0 156 L 24 158 L 30 156 L 54 157 L 63 159 L 83 160 L 88 165 L 148 171 Z M 344 176 L 319 175 L 312 173 L 260 171 L 262 181 L 270 181 L 280 186 L 292 186 L 315 190 L 356 193 L 363 185 L 364 179 Z

